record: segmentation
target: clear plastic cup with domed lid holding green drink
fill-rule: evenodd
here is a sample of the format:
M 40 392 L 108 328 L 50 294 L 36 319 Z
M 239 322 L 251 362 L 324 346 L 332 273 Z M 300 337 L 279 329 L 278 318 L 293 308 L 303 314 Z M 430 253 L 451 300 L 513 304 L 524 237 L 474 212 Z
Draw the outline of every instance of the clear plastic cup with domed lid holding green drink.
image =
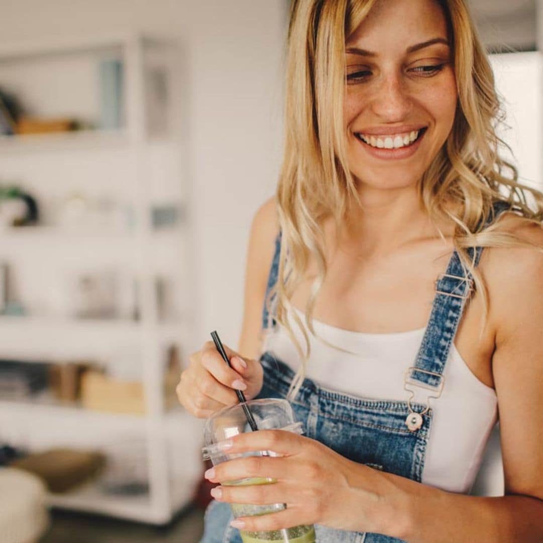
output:
M 243 456 L 278 456 L 273 451 L 254 451 L 243 454 L 229 454 L 220 451 L 217 447 L 219 441 L 231 438 L 233 435 L 251 432 L 251 427 L 243 411 L 247 406 L 256 421 L 258 430 L 287 430 L 298 434 L 303 433 L 301 422 L 295 422 L 291 405 L 286 400 L 265 399 L 251 400 L 237 403 L 214 413 L 206 421 L 204 430 L 205 460 L 211 460 L 214 466 L 226 460 Z M 274 479 L 248 477 L 238 481 L 223 482 L 223 485 L 243 484 L 273 484 Z M 234 516 L 266 515 L 285 509 L 284 503 L 270 505 L 252 505 L 245 503 L 231 503 Z M 295 526 L 270 532 L 244 532 L 240 531 L 243 543 L 314 543 L 315 530 L 312 525 Z

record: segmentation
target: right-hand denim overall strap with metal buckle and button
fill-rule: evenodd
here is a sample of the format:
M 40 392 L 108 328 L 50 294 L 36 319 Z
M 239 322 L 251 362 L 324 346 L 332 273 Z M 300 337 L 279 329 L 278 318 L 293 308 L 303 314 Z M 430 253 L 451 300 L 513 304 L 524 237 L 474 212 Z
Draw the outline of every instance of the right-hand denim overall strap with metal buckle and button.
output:
M 510 205 L 507 203 L 501 201 L 495 203 L 485 224 L 494 222 L 508 209 Z M 482 251 L 481 247 L 467 249 L 473 267 L 477 267 Z M 472 283 L 471 274 L 464 268 L 457 251 L 454 250 L 447 270 L 435 281 L 435 298 L 426 332 L 416 355 L 415 364 L 406 372 L 405 388 L 412 393 L 412 397 L 413 391 L 407 388 L 408 384 L 432 390 L 434 395 L 429 398 L 437 398 L 441 394 L 444 386 L 445 364 L 449 358 L 449 351 L 462 317 L 465 301 L 471 293 Z M 411 419 L 414 428 L 409 425 L 409 417 L 406 422 L 410 430 L 416 430 L 415 426 L 422 422 L 422 419 L 416 415 L 422 415 L 428 409 L 427 405 L 423 413 L 411 413 L 414 415 Z

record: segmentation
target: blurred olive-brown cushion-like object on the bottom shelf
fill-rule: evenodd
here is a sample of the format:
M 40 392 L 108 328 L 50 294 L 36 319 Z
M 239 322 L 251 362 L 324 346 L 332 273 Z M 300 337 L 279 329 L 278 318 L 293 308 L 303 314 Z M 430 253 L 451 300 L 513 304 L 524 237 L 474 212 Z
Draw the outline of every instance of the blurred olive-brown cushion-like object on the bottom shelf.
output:
M 39 476 L 51 492 L 66 492 L 89 481 L 105 465 L 96 451 L 50 449 L 15 460 L 12 467 Z

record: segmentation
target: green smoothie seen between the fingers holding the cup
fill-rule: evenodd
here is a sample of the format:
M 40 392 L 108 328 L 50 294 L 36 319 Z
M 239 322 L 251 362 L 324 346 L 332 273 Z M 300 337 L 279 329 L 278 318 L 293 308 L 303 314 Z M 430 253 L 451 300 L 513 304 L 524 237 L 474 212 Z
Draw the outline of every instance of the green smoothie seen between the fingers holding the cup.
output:
M 264 477 L 252 477 L 247 479 L 241 479 L 241 481 L 230 481 L 229 483 L 223 483 L 223 485 L 246 485 L 246 484 L 272 484 L 275 483 L 274 479 L 267 479 Z M 239 516 L 255 516 L 266 515 L 268 513 L 274 513 L 281 511 L 285 508 L 280 503 L 271 505 L 251 505 L 248 503 L 231 503 L 230 507 L 234 515 Z M 243 540 L 243 543 L 314 543 L 315 541 L 315 529 L 310 526 L 294 526 L 293 528 L 286 528 L 283 530 L 274 530 L 271 532 L 242 532 L 239 534 Z

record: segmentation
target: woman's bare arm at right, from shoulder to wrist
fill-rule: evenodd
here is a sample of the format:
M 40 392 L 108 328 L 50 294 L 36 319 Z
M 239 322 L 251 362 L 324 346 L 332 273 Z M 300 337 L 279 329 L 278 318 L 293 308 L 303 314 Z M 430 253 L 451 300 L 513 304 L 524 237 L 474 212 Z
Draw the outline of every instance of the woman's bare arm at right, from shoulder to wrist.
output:
M 538 227 L 516 233 L 543 246 Z M 543 254 L 491 249 L 483 273 L 506 495 L 457 495 L 384 474 L 404 494 L 408 541 L 543 541 Z

